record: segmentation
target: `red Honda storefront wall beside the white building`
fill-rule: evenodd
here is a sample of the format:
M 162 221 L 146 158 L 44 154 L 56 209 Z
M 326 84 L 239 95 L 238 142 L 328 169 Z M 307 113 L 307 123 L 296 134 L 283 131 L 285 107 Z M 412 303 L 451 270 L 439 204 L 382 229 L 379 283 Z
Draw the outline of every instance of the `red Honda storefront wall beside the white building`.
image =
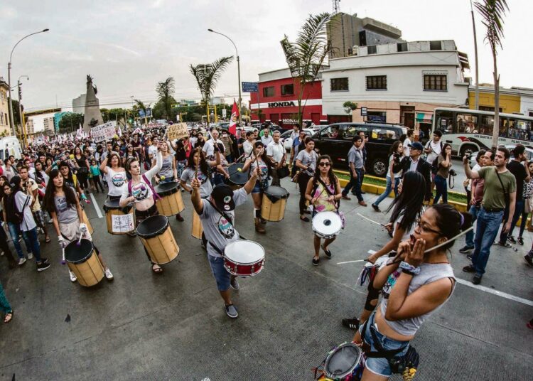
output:
M 281 95 L 281 87 L 283 85 L 293 85 L 293 94 Z M 264 90 L 268 87 L 270 87 L 269 94 Z M 300 84 L 295 84 L 291 77 L 259 82 L 259 102 L 262 110 L 261 122 L 268 120 L 275 124 L 290 125 L 297 121 L 297 94 L 299 91 Z M 310 120 L 314 124 L 321 124 L 321 121 L 324 124 L 327 122 L 328 118 L 322 114 L 322 85 L 320 81 L 306 85 L 303 89 L 302 104 L 305 104 L 303 108 L 304 121 Z M 252 122 L 258 122 L 257 92 L 250 93 L 250 109 L 252 110 Z

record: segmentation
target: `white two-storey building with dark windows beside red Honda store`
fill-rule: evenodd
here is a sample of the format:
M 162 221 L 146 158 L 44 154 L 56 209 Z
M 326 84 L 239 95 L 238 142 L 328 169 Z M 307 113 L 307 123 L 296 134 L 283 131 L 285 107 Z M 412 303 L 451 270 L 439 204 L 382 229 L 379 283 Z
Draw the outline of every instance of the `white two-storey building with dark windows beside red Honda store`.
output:
M 329 61 L 323 70 L 323 114 L 346 120 L 343 103 L 357 103 L 352 121 L 429 129 L 435 107 L 464 105 L 468 57 L 454 41 L 415 41 L 355 46 L 354 55 Z M 367 108 L 362 117 L 361 107 Z M 337 120 L 338 119 L 338 120 Z

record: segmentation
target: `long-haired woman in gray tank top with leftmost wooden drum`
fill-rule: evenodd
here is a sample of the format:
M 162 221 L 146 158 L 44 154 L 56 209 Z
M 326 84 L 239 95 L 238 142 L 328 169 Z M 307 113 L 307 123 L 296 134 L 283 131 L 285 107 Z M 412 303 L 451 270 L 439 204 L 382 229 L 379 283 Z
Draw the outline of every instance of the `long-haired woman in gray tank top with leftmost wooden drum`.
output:
M 76 241 L 82 238 L 92 241 L 90 234 L 85 235 L 87 231 L 87 225 L 83 222 L 82 207 L 80 200 L 77 198 L 76 192 L 70 186 L 65 183 L 63 175 L 57 169 L 53 169 L 50 172 L 50 181 L 46 186 L 44 205 L 55 227 L 55 231 L 58 233 L 59 245 L 62 249 L 70 244 L 70 242 Z M 98 259 L 105 269 L 105 277 L 108 280 L 113 279 L 113 274 L 109 267 L 104 262 L 102 254 L 96 246 L 93 246 Z M 70 281 L 76 281 L 75 274 L 68 270 L 70 275 Z

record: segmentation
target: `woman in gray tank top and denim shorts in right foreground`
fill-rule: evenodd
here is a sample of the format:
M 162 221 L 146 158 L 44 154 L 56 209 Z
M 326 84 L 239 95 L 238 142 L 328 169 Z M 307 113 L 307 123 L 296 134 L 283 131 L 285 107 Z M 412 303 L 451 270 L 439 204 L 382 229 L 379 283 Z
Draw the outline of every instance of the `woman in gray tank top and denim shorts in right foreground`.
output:
M 422 323 L 448 301 L 456 285 L 447 255 L 453 241 L 424 251 L 455 237 L 471 222 L 470 214 L 451 205 L 432 206 L 421 215 L 411 240 L 401 242 L 397 256 L 379 270 L 374 286 L 382 288 L 382 301 L 354 337 L 367 353 L 362 381 L 388 380 L 390 364 L 404 358 Z

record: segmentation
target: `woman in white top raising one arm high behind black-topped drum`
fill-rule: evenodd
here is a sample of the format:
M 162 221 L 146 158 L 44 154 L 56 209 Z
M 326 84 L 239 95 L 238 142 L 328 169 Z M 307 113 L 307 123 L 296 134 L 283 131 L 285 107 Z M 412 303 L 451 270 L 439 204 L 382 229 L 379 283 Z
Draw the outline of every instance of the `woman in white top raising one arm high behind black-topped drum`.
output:
M 126 205 L 134 203 L 135 207 L 135 226 L 139 225 L 146 218 L 152 215 L 158 215 L 159 212 L 156 206 L 156 192 L 152 187 L 151 181 L 158 171 L 161 171 L 161 163 L 163 156 L 161 156 L 161 149 L 166 143 L 160 142 L 157 147 L 156 165 L 141 175 L 141 164 L 136 159 L 129 159 L 126 162 L 126 171 L 131 175 L 129 183 L 122 187 L 122 195 L 120 197 L 120 207 L 124 208 Z M 158 264 L 152 262 L 150 255 L 146 248 L 146 257 L 150 261 L 152 271 L 156 274 L 161 274 L 163 269 Z

